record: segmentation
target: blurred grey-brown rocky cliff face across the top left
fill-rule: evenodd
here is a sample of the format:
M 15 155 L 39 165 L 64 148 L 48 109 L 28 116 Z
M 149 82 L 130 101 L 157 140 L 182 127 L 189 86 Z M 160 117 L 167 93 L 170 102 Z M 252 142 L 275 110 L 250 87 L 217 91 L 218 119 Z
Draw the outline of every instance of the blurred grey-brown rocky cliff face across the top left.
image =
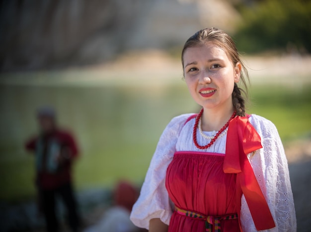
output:
M 182 44 L 203 27 L 231 31 L 239 15 L 222 0 L 3 0 L 0 69 L 102 62 L 131 49 Z

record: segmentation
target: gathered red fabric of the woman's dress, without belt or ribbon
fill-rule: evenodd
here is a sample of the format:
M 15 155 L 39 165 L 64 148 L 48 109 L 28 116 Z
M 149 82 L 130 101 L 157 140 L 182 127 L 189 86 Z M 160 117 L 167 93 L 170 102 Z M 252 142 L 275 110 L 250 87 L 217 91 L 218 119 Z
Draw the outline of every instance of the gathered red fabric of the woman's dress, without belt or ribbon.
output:
M 166 189 L 179 209 L 206 216 L 237 213 L 235 174 L 223 171 L 224 154 L 176 152 L 166 172 Z M 239 232 L 238 219 L 220 220 L 222 232 Z M 205 232 L 205 220 L 173 213 L 169 232 Z

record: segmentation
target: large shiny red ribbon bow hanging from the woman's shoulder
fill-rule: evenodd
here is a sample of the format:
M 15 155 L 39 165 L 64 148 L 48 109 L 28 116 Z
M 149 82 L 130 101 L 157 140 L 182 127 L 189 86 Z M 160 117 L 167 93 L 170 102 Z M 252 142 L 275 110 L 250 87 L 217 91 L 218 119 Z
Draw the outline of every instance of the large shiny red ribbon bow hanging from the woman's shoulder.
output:
M 262 148 L 261 138 L 247 117 L 236 116 L 229 123 L 224 172 L 236 173 L 237 209 L 244 194 L 257 231 L 274 228 L 268 204 L 260 190 L 247 154 Z M 240 210 L 237 212 L 240 218 Z

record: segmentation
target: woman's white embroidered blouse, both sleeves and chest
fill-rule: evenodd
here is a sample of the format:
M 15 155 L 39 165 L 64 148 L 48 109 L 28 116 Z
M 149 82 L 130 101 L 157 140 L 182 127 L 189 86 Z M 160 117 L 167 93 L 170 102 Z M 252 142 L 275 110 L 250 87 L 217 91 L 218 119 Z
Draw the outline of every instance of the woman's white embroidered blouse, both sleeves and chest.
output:
M 140 197 L 131 213 L 131 220 L 138 227 L 149 229 L 149 221 L 153 218 L 159 218 L 169 225 L 173 208 L 165 188 L 165 175 L 176 150 L 225 154 L 226 135 L 218 138 L 213 146 L 206 150 L 199 150 L 194 145 L 192 130 L 195 120 L 191 119 L 184 124 L 189 116 L 191 114 L 174 117 L 159 139 Z M 275 228 L 264 232 L 296 232 L 296 214 L 288 164 L 278 131 L 271 121 L 261 116 L 251 115 L 249 121 L 259 133 L 263 148 L 248 158 L 276 223 Z M 215 131 L 204 133 L 212 136 Z M 199 144 L 207 143 L 200 133 L 197 133 L 197 140 Z M 240 217 L 244 232 L 256 231 L 244 196 L 241 199 Z

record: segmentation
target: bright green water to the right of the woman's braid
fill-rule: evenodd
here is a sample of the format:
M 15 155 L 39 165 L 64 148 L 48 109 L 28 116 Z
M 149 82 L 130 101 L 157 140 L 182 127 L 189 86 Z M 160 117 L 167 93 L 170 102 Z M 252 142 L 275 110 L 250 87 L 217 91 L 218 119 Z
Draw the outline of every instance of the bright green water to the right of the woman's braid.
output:
M 284 143 L 311 133 L 311 86 L 254 86 L 249 112 L 271 120 Z

